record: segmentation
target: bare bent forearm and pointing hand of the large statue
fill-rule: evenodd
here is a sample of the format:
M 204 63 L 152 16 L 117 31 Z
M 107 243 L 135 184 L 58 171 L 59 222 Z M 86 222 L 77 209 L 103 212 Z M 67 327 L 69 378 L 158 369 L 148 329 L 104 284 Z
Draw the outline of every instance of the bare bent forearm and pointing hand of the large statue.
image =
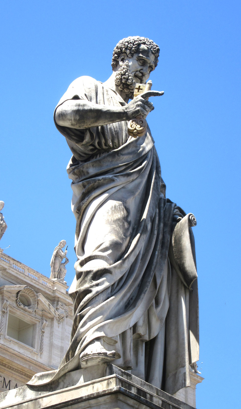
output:
M 158 91 L 148 91 L 148 93 L 153 96 L 162 95 Z M 152 103 L 145 99 L 146 95 L 147 92 L 120 107 L 99 105 L 83 99 L 68 99 L 56 109 L 55 121 L 59 126 L 85 129 L 128 121 L 137 115 L 146 117 L 154 109 Z

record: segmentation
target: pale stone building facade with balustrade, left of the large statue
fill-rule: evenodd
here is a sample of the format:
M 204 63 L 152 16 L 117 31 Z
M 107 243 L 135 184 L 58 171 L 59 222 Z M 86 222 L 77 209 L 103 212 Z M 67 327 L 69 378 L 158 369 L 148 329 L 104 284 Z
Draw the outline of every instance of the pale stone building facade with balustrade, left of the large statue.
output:
M 0 392 L 59 367 L 73 320 L 67 288 L 0 252 Z

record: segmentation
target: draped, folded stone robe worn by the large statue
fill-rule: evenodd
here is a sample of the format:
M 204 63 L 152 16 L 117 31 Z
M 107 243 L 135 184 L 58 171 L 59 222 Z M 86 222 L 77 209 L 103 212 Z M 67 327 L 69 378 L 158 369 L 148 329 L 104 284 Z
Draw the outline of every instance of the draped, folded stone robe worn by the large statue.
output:
M 57 106 L 69 99 L 126 104 L 87 76 Z M 189 364 L 198 360 L 197 285 L 189 290 L 169 260 L 173 214 L 185 213 L 165 198 L 151 132 L 129 137 L 126 121 L 56 127 L 73 154 L 77 262 L 70 346 L 52 379 L 77 369 L 80 353 L 101 337 L 119 357 L 113 364 L 173 394 L 190 385 Z

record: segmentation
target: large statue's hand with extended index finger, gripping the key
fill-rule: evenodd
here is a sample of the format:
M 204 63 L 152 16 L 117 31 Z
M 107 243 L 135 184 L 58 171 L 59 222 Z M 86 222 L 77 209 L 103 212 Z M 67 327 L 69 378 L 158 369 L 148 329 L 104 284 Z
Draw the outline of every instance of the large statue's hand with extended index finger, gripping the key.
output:
M 146 91 L 142 94 L 138 95 L 130 101 L 126 106 L 124 106 L 124 110 L 126 111 L 127 117 L 126 119 L 133 119 L 137 116 L 141 115 L 143 118 L 146 118 L 149 112 L 153 111 L 153 103 L 148 101 L 149 97 L 160 97 L 164 94 L 164 91 Z

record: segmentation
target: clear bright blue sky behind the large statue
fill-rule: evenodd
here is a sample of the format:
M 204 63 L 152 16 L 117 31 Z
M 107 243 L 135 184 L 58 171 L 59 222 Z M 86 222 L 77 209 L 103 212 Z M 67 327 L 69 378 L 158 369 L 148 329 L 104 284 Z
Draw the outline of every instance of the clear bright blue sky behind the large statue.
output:
M 238 407 L 240 390 L 240 15 L 231 0 L 1 1 L 0 200 L 7 254 L 50 275 L 67 241 L 74 276 L 71 153 L 52 119 L 78 76 L 105 81 L 129 35 L 160 46 L 148 117 L 167 196 L 197 218 L 198 408 Z

